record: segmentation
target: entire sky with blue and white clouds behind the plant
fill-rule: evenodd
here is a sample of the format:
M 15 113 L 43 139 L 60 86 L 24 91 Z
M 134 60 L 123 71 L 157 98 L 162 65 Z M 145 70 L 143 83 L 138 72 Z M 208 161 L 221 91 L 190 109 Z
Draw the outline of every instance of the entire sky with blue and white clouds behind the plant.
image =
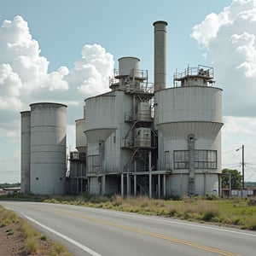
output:
M 109 90 L 118 59 L 154 82 L 154 27 L 166 20 L 167 85 L 188 65 L 214 68 L 223 92 L 222 169 L 256 181 L 256 0 L 0 0 L 0 183 L 20 181 L 20 111 L 67 104 L 67 146 L 84 98 Z

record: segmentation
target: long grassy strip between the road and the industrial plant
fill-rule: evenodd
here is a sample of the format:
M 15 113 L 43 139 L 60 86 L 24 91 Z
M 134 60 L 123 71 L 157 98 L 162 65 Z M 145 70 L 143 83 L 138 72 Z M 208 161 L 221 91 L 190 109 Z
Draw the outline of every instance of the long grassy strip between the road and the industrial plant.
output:
M 2 197 L 0 197 L 2 199 Z M 8 200 L 44 201 L 49 203 L 71 204 L 84 207 L 113 209 L 123 212 L 137 212 L 145 215 L 158 215 L 197 221 L 211 222 L 218 225 L 230 225 L 245 230 L 256 230 L 256 202 L 255 197 L 249 199 L 218 197 L 183 197 L 179 200 L 156 200 L 148 196 L 120 195 L 65 195 L 65 196 L 35 196 L 14 195 Z

